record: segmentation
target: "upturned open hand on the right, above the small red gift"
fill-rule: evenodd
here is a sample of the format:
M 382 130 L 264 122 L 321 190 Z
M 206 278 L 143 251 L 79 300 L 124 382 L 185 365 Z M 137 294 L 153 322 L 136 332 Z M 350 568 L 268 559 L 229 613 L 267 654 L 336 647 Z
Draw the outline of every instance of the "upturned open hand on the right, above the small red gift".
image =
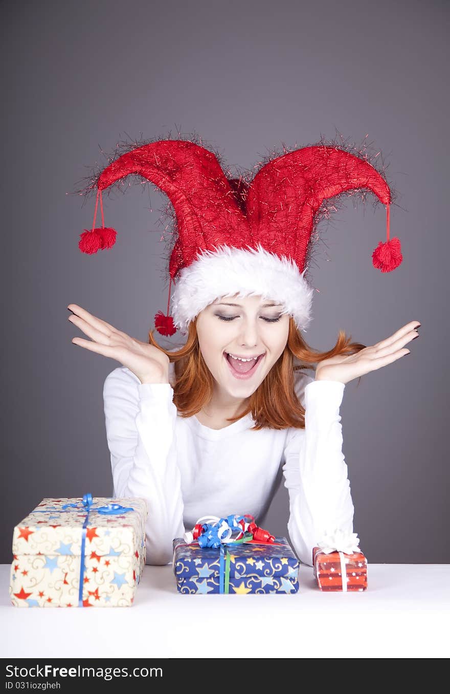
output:
M 419 321 L 411 321 L 397 330 L 394 335 L 378 342 L 372 347 L 365 347 L 356 354 L 330 357 L 318 363 L 315 369 L 316 381 L 339 381 L 348 383 L 370 371 L 377 371 L 382 366 L 392 364 L 400 357 L 409 354 L 405 348 L 411 340 L 418 337 Z

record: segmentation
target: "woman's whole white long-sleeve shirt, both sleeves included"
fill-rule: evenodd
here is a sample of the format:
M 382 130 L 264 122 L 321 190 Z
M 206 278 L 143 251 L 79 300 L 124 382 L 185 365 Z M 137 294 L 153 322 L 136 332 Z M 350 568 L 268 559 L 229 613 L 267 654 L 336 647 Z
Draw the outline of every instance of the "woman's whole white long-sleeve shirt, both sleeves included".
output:
M 353 532 L 339 415 L 344 388 L 300 372 L 295 392 L 305 408 L 304 429 L 251 431 L 250 413 L 215 430 L 196 416 L 178 415 L 170 383 L 143 384 L 125 366 L 107 375 L 113 496 L 147 501 L 146 563 L 170 563 L 173 538 L 201 516 L 251 514 L 264 527 L 283 476 L 289 539 L 303 564 L 312 566 L 313 546 L 324 532 Z

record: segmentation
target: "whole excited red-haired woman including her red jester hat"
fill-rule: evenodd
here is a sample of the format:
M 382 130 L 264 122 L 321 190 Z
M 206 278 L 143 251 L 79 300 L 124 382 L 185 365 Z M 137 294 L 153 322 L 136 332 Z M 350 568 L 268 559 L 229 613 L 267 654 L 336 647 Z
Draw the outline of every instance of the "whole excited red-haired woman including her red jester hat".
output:
M 401 263 L 389 238 L 390 189 L 368 162 L 338 146 L 288 151 L 262 162 L 250 182 L 230 179 L 218 156 L 190 140 L 133 146 L 91 181 L 102 227 L 85 231 L 84 253 L 110 248 L 101 193 L 130 174 L 171 200 L 175 224 L 169 275 L 171 315 L 162 335 L 187 335 L 178 351 L 133 339 L 76 304 L 69 321 L 87 350 L 122 366 L 103 396 L 114 496 L 148 504 L 148 564 L 172 560 L 172 541 L 201 516 L 264 519 L 284 477 L 288 534 L 304 564 L 325 534 L 352 532 L 354 507 L 342 452 L 340 404 L 345 384 L 392 364 L 417 337 L 410 321 L 374 346 L 340 331 L 329 352 L 311 349 L 306 282 L 313 230 L 324 201 L 369 189 L 386 205 L 387 241 L 372 255 L 383 272 Z M 251 178 L 248 176 L 248 178 Z M 175 327 L 176 326 L 176 327 Z M 313 369 L 313 375 L 304 373 Z

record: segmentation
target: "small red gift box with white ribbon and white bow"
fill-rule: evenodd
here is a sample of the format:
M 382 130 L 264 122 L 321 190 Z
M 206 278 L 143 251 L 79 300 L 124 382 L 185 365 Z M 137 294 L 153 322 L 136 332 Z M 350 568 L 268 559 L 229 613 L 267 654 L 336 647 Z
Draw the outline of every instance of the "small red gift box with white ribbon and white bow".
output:
M 313 573 L 321 591 L 365 591 L 367 559 L 356 533 L 324 535 L 313 548 Z

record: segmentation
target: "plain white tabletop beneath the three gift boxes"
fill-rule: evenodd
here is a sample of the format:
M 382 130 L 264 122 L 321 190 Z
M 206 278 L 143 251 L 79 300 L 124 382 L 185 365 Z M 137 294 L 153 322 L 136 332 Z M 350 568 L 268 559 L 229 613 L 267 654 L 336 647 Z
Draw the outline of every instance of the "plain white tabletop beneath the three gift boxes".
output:
M 2 658 L 447 658 L 450 564 L 369 564 L 361 593 L 182 595 L 146 566 L 132 607 L 21 608 L 0 565 Z

